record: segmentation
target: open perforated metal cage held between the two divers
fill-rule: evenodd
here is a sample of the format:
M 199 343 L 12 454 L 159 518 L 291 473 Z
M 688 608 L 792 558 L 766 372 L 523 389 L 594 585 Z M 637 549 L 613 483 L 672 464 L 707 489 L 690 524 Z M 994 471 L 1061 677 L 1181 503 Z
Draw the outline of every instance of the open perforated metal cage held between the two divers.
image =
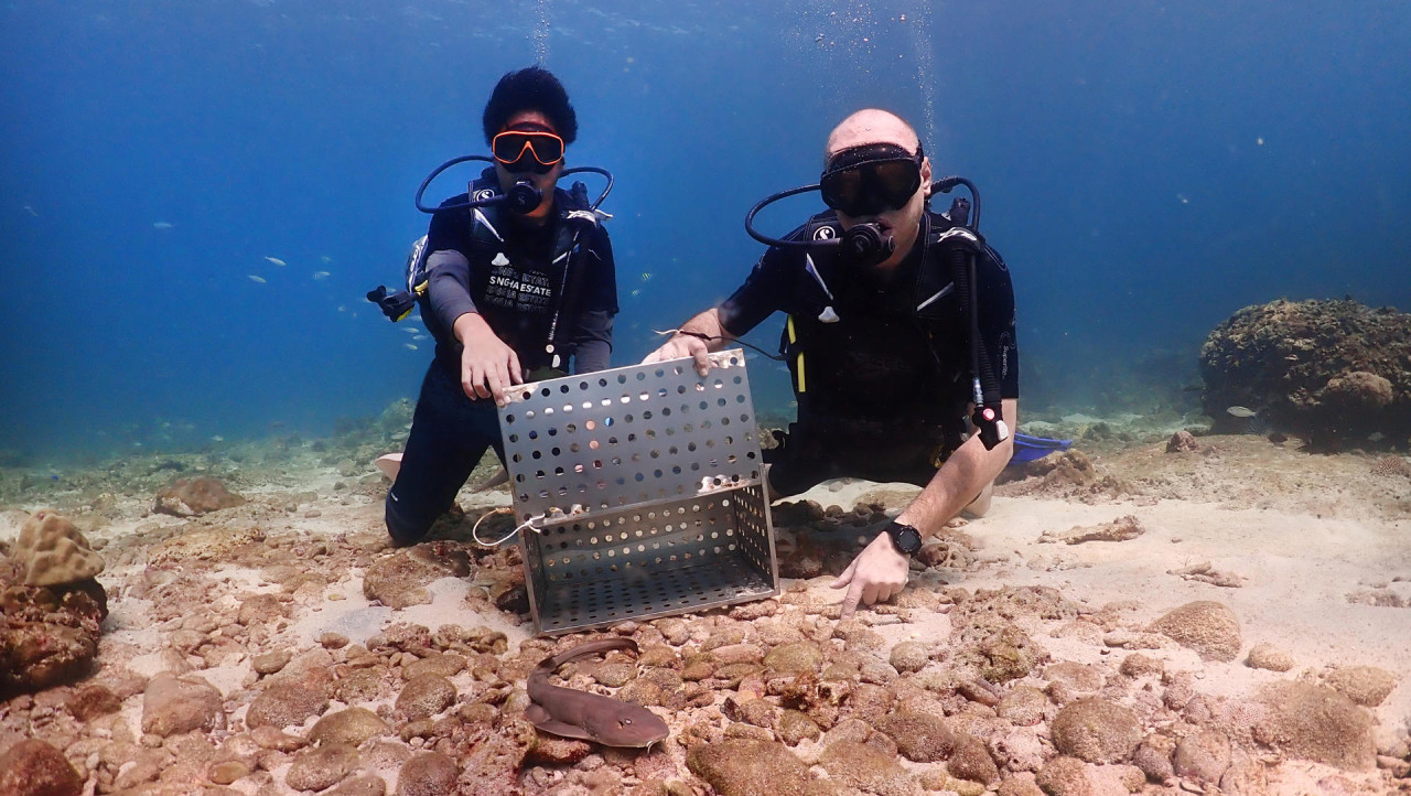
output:
M 739 350 L 516 388 L 499 411 L 543 634 L 777 594 Z

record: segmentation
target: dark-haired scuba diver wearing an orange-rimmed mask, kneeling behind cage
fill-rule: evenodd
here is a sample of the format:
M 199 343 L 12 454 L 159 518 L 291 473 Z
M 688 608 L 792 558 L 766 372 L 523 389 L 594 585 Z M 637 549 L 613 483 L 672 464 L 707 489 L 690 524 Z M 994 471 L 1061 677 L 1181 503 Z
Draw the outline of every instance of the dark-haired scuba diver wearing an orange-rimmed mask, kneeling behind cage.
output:
M 608 367 L 618 312 L 607 213 L 583 183 L 557 188 L 579 131 L 563 85 L 531 66 L 501 78 L 484 111 L 491 157 L 443 164 L 418 192 L 432 213 L 408 260 L 408 291 L 368 294 L 399 320 L 419 305 L 436 356 L 422 381 L 406 449 L 387 494 L 387 531 L 420 541 L 487 447 L 504 460 L 497 405 L 515 384 Z M 491 162 L 466 193 L 437 207 L 420 196 L 450 165 Z M 608 175 L 611 189 L 611 175 Z M 394 454 L 395 457 L 395 454 Z

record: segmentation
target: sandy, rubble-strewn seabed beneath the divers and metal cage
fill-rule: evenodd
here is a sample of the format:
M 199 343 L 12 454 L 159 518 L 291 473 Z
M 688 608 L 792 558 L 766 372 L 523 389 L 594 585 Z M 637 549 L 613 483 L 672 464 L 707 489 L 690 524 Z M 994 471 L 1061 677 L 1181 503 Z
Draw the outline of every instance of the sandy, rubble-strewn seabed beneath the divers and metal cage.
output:
M 145 481 L 23 491 L 0 541 L 38 508 L 75 519 L 106 559 L 110 615 L 90 677 L 0 703 L 0 754 L 47 741 L 90 793 L 1411 792 L 1411 462 L 1197 443 L 1002 484 L 895 604 L 841 624 L 828 583 L 849 538 L 914 487 L 834 481 L 800 495 L 816 507 L 776 507 L 780 597 L 597 631 L 641 659 L 560 670 L 666 717 L 650 752 L 523 723 L 528 670 L 597 634 L 533 639 L 515 553 L 468 543 L 508 494 L 464 491 L 467 519 L 394 550 L 370 464 L 154 460 L 152 478 L 209 469 L 248 498 L 200 518 L 151 514 Z M 1167 632 L 1192 603 L 1223 610 Z M 219 716 L 154 732 L 164 673 L 219 692 Z M 69 706 L 93 683 L 119 703 L 80 720 Z M 1288 683 L 1307 686 L 1301 716 L 1270 692 Z M 1109 727 L 1084 704 L 1122 713 Z M 910 714 L 930 718 L 897 724 Z M 749 785 L 762 776 L 800 779 Z

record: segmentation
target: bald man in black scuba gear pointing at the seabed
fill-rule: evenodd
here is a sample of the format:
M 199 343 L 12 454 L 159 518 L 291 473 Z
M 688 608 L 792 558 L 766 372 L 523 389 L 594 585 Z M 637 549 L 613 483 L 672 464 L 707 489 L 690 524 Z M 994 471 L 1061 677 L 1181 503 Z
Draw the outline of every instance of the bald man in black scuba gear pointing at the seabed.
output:
M 1019 350 L 1009 268 L 978 231 L 969 181 L 931 182 L 931 162 L 899 116 L 866 109 L 828 135 L 818 185 L 770 196 L 746 216 L 769 244 L 745 282 L 696 315 L 645 361 L 694 357 L 786 313 L 782 353 L 797 421 L 765 452 L 772 497 L 835 477 L 923 487 L 832 583 L 842 615 L 900 593 L 926 536 L 962 509 L 983 514 L 1015 450 Z M 934 191 L 974 199 L 931 212 Z M 777 199 L 818 191 L 828 212 L 783 239 L 753 216 Z

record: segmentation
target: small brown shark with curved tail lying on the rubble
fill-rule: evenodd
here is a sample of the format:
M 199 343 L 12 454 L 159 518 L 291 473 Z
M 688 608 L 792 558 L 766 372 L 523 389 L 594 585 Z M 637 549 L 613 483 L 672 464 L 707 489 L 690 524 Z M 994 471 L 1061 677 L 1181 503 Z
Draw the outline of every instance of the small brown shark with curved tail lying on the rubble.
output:
M 629 638 L 590 641 L 540 661 L 529 673 L 529 700 L 533 704 L 525 708 L 525 718 L 545 732 L 597 741 L 604 747 L 646 748 L 666 740 L 670 734 L 666 721 L 642 706 L 549 685 L 549 675 L 559 666 L 610 649 L 631 649 L 635 653 L 636 642 Z

